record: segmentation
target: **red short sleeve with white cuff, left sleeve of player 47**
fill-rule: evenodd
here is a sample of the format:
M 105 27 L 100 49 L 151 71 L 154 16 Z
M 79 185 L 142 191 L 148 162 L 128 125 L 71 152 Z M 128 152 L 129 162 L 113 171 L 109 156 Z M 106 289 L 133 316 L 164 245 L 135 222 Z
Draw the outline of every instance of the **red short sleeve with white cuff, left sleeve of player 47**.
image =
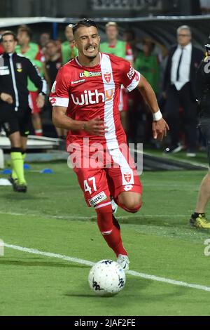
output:
M 69 83 L 68 74 L 65 67 L 62 67 L 55 78 L 50 93 L 50 103 L 52 107 L 68 107 L 69 105 Z

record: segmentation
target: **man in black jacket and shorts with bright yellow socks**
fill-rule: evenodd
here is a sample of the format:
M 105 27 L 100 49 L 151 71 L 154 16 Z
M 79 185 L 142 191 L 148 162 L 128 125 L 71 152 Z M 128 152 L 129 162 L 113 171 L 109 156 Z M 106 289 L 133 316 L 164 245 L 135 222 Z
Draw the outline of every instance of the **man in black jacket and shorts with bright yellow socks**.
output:
M 23 163 L 31 119 L 27 79 L 29 77 L 38 88 L 36 102 L 40 107 L 44 104 L 46 84 L 31 61 L 15 53 L 17 41 L 13 32 L 4 32 L 1 43 L 4 53 L 0 56 L 0 124 L 11 143 L 13 188 L 18 192 L 26 192 Z

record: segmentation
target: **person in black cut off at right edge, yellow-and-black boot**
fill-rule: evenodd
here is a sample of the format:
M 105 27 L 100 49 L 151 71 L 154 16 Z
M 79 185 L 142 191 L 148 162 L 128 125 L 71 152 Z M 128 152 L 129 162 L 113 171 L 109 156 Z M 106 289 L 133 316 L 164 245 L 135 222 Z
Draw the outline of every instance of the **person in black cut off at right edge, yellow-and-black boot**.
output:
M 207 56 L 202 60 L 197 71 L 196 94 L 200 109 L 200 128 L 207 140 L 207 153 L 210 166 L 210 38 L 205 45 Z M 205 209 L 210 199 L 210 170 L 202 180 L 197 198 L 195 213 L 190 218 L 190 225 L 198 228 L 210 229 Z

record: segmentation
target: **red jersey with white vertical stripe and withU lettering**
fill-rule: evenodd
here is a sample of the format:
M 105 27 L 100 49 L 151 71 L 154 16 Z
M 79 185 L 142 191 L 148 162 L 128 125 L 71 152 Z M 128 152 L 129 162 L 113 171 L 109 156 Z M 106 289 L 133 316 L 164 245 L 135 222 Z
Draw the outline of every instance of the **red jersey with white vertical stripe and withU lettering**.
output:
M 58 72 L 50 94 L 52 106 L 67 107 L 66 115 L 78 121 L 89 121 L 99 117 L 108 127 L 104 137 L 94 136 L 85 131 L 69 131 L 69 143 L 103 143 L 109 149 L 125 143 L 126 136 L 120 122 L 119 95 L 123 84 L 132 91 L 139 84 L 141 75 L 130 62 L 116 55 L 99 53 L 99 65 L 84 67 L 74 58 Z

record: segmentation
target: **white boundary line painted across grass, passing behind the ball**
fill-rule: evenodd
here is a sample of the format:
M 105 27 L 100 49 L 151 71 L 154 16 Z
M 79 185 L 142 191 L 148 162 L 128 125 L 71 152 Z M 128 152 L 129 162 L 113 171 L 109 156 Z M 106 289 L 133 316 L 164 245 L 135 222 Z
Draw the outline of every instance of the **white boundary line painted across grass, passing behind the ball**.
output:
M 40 256 L 46 256 L 46 257 L 50 257 L 50 258 L 58 258 L 58 259 L 62 259 L 62 260 L 71 261 L 72 263 L 80 263 L 82 265 L 87 265 L 87 266 L 94 265 L 94 263 L 92 263 L 92 261 L 64 256 L 62 254 L 43 252 L 43 251 L 39 251 L 36 249 L 28 249 L 28 248 L 25 248 L 22 246 L 10 245 L 10 244 L 6 244 L 6 243 L 4 243 L 4 246 L 7 247 L 8 249 L 15 249 L 15 250 L 27 252 L 27 253 L 34 253 L 34 254 L 38 254 Z M 174 279 L 167 279 L 165 277 L 158 277 L 155 275 L 148 275 L 148 274 L 144 274 L 141 272 L 134 272 L 132 270 L 129 270 L 127 272 L 127 274 L 135 276 L 135 277 L 141 277 L 143 279 L 151 279 L 152 281 L 158 281 L 158 282 L 173 284 L 173 285 L 177 285 L 177 286 L 184 286 L 184 287 L 191 288 L 191 289 L 210 291 L 210 286 L 204 286 L 204 285 L 200 285 L 200 284 L 190 284 L 190 283 L 186 283 L 186 282 L 176 281 Z

